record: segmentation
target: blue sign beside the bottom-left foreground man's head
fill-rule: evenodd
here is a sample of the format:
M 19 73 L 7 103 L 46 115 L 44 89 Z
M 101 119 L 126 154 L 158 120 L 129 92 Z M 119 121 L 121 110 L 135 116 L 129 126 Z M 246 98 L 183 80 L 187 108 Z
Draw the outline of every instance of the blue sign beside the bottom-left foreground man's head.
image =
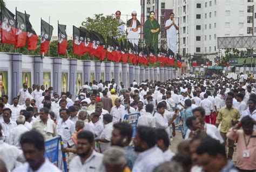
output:
M 59 136 L 56 136 L 44 142 L 44 157 L 48 158 L 51 163 L 55 164 L 55 166 L 58 164 L 59 138 Z

